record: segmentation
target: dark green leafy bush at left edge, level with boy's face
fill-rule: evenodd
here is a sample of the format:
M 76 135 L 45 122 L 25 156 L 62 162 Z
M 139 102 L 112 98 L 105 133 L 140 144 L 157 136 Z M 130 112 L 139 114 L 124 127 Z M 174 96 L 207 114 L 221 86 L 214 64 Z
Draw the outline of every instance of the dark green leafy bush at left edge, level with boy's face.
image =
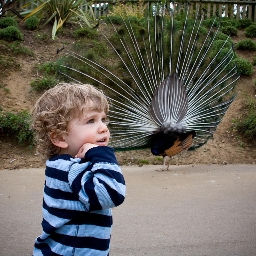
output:
M 27 121 L 30 114 L 27 110 L 14 114 L 13 112 L 0 112 L 0 129 L 7 135 L 14 135 L 19 144 L 25 141 L 33 142 L 33 132 L 29 129 Z

